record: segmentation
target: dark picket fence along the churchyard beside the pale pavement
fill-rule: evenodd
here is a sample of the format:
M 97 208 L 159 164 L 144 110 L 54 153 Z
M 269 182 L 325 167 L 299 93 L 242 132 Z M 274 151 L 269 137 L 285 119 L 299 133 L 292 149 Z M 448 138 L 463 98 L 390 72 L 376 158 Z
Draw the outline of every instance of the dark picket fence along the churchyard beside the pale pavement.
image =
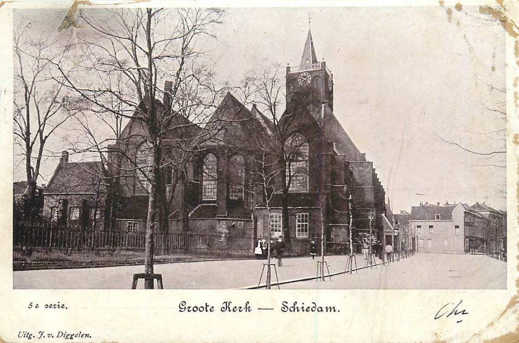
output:
M 154 233 L 155 260 L 252 256 L 253 237 L 192 232 Z M 13 226 L 13 267 L 141 263 L 145 232 L 74 230 L 42 223 Z

